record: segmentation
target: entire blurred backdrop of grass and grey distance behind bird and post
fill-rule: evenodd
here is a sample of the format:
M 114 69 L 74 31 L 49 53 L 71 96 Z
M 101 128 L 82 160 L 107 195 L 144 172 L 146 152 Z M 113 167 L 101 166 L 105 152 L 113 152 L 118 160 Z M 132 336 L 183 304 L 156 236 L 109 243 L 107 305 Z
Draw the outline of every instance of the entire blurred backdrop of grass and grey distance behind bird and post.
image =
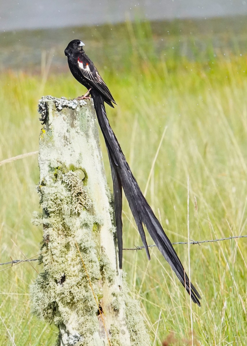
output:
M 172 242 L 247 235 L 247 4 L 240 0 L 0 0 L 0 262 L 35 256 L 38 100 L 85 91 L 64 49 L 81 39 L 118 106 L 107 115 Z M 109 186 L 107 152 L 102 152 Z M 189 204 L 187 196 L 189 195 Z M 189 208 L 189 213 L 187 212 Z M 126 200 L 124 247 L 141 245 Z M 152 240 L 147 237 L 149 244 Z M 152 345 L 246 345 L 245 238 L 174 245 L 202 296 L 192 306 L 156 248 L 125 251 Z M 34 257 L 37 258 L 37 257 Z M 0 344 L 53 345 L 31 313 L 42 266 L 0 266 Z

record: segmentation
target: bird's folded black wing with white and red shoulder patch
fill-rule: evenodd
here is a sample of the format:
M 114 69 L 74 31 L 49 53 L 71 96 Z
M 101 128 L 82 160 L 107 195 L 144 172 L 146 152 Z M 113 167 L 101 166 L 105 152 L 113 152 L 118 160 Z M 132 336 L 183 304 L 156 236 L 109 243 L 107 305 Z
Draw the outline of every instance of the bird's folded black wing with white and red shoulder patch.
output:
M 110 93 L 110 90 L 107 88 L 106 83 L 101 78 L 93 63 L 91 63 L 90 61 L 83 62 L 80 60 L 80 58 L 78 58 L 77 64 L 83 77 L 89 81 L 92 88 L 97 89 L 100 93 L 103 94 L 103 96 L 116 104 L 115 100 L 112 97 L 112 94 Z

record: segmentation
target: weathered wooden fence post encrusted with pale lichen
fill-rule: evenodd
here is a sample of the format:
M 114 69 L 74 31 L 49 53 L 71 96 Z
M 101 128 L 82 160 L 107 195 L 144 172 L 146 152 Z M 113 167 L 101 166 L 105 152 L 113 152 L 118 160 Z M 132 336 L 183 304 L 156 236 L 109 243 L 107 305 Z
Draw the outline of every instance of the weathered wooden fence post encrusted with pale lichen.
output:
M 114 213 L 90 100 L 43 97 L 39 137 L 43 225 L 33 313 L 59 328 L 57 345 L 146 346 L 139 304 L 119 270 Z

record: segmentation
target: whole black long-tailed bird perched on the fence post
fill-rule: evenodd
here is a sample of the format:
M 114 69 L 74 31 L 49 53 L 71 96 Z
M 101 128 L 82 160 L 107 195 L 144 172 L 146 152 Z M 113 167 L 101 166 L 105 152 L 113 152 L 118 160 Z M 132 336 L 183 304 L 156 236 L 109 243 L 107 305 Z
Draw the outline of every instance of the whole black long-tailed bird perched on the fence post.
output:
M 158 219 L 154 215 L 153 210 L 150 208 L 143 193 L 141 192 L 139 185 L 126 161 L 126 158 L 122 153 L 117 138 L 110 127 L 104 107 L 104 102 L 109 104 L 111 107 L 113 107 L 112 103 L 116 104 L 116 102 L 113 99 L 106 83 L 101 78 L 98 70 L 96 69 L 90 58 L 85 54 L 83 46 L 84 43 L 82 41 L 73 40 L 68 44 L 64 53 L 68 57 L 68 66 L 70 67 L 71 73 L 78 82 L 80 82 L 88 89 L 88 92 L 84 95 L 84 97 L 86 97 L 86 95 L 90 93 L 91 97 L 93 98 L 96 115 L 108 149 L 108 155 L 111 165 L 111 175 L 113 180 L 119 267 L 122 267 L 121 215 L 123 188 L 126 198 L 129 202 L 131 212 L 136 221 L 141 240 L 143 241 L 144 247 L 146 249 L 148 259 L 150 260 L 150 255 L 143 225 L 146 226 L 159 251 L 165 257 L 166 261 L 170 264 L 175 274 L 185 287 L 186 291 L 191 295 L 192 301 L 200 306 L 199 299 L 201 299 L 201 297 L 198 291 L 195 289 L 194 285 L 190 283 L 189 277 L 185 273 L 182 263 L 180 262 L 180 259 L 177 256 L 170 240 L 167 238 L 161 224 L 159 223 Z

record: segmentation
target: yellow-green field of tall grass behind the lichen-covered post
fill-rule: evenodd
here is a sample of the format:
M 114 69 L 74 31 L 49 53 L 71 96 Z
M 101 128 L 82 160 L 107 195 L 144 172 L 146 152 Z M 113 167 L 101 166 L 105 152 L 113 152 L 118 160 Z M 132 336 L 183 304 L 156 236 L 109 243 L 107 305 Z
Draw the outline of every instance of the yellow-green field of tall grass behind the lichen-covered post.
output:
M 247 56 L 174 63 L 135 51 L 128 59 L 132 64 L 117 74 L 98 64 L 118 103 L 107 113 L 168 237 L 187 240 L 188 179 L 190 239 L 247 235 Z M 82 87 L 69 72 L 2 74 L 0 161 L 38 150 L 37 103 L 46 94 L 74 98 Z M 102 151 L 110 184 L 103 140 Z M 0 166 L 0 262 L 39 251 L 43 232 L 30 221 L 39 208 L 38 179 L 37 155 Z M 124 247 L 142 245 L 126 200 L 123 222 Z M 144 251 L 124 252 L 151 345 L 192 345 L 192 339 L 194 345 L 247 344 L 246 241 L 190 245 L 190 263 L 188 246 L 174 245 L 202 296 L 201 308 L 192 305 L 193 338 L 190 298 L 157 248 L 150 249 L 150 262 Z M 29 286 L 41 271 L 36 262 L 0 267 L 0 345 L 55 343 L 56 328 L 30 312 Z

